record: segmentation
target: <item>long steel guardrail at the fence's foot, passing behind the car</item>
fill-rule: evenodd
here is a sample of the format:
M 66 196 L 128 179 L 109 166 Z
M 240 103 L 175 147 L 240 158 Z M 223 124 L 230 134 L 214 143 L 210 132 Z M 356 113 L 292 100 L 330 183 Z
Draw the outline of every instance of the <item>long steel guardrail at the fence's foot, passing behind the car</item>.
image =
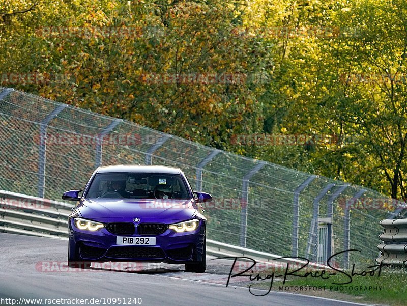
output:
M 68 239 L 68 216 L 73 204 L 27 196 L 25 194 L 0 190 L 0 232 Z M 207 239 L 207 253 L 216 257 L 242 257 L 254 259 L 258 263 L 281 262 L 290 265 L 304 265 L 306 262 L 283 258 L 275 254 L 256 251 Z M 247 261 L 247 259 L 246 259 Z M 326 268 L 310 263 L 310 266 Z

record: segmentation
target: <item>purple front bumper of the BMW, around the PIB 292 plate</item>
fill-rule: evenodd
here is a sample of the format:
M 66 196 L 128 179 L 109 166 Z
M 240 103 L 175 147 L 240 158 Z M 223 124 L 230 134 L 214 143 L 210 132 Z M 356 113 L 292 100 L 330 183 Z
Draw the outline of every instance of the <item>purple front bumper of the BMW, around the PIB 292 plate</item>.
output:
M 139 261 L 189 263 L 202 260 L 206 221 L 195 231 L 177 233 L 166 229 L 159 235 L 112 234 L 106 228 L 95 232 L 80 230 L 69 220 L 69 259 L 71 261 Z M 137 232 L 137 231 L 136 231 Z M 117 237 L 155 237 L 156 245 L 118 245 Z

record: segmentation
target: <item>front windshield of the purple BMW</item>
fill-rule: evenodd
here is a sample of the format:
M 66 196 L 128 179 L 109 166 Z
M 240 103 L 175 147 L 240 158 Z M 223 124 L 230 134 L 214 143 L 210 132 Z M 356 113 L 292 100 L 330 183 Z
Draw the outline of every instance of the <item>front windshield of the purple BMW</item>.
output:
M 179 174 L 112 172 L 95 175 L 88 199 L 190 199 Z

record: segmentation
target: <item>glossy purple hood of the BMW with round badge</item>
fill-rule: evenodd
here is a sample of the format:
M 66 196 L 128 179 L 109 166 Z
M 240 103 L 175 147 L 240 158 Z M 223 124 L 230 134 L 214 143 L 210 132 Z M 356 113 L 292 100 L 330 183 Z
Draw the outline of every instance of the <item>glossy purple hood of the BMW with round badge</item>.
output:
M 185 221 L 196 213 L 193 200 L 85 199 L 77 210 L 83 218 L 102 222 Z

